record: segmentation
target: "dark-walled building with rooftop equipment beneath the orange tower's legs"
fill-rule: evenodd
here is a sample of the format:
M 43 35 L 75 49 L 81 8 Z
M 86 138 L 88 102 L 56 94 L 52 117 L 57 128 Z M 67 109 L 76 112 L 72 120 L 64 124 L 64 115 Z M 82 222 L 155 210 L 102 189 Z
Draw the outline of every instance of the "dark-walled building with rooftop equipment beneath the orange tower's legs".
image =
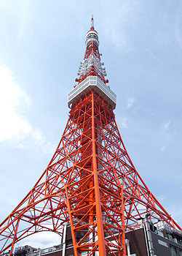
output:
M 78 234 L 76 239 L 82 236 Z M 153 225 L 146 217 L 138 220 L 138 227 L 126 233 L 126 251 L 128 256 L 182 256 L 182 233 L 158 222 Z M 74 246 L 71 238 L 71 227 L 64 227 L 62 243 L 46 249 L 35 249 L 31 246 L 19 246 L 15 256 L 74 256 Z M 87 253 L 82 252 L 82 255 Z M 97 254 L 95 254 L 97 255 Z

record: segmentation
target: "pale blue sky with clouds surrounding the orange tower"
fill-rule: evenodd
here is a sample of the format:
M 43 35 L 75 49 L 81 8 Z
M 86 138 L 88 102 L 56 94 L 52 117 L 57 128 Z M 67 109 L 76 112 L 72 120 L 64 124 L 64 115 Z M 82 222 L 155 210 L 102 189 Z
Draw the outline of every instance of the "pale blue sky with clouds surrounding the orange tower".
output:
M 124 145 L 182 226 L 180 0 L 0 1 L 0 219 L 33 187 L 60 140 L 92 15 Z

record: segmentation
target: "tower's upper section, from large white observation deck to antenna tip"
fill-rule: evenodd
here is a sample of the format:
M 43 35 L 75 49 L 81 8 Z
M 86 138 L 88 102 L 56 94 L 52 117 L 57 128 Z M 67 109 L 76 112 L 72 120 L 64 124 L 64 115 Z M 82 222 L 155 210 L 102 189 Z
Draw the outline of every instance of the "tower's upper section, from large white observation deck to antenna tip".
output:
M 116 94 L 107 85 L 108 80 L 105 80 L 106 68 L 103 67 L 104 63 L 100 61 L 98 32 L 95 31 L 93 17 L 85 44 L 84 60 L 80 62 L 77 74 L 79 78 L 75 79 L 78 84 L 68 93 L 68 107 L 72 108 L 72 105 L 85 94 L 95 91 L 114 109 L 116 108 Z

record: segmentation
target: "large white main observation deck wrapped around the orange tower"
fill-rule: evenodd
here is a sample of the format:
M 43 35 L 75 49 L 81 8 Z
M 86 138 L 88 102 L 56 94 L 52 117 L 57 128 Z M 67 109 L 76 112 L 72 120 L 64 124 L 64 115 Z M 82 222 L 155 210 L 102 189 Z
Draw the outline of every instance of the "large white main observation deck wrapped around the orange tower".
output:
M 116 94 L 97 76 L 88 76 L 68 93 L 68 108 L 91 90 L 108 102 L 113 110 L 116 108 Z

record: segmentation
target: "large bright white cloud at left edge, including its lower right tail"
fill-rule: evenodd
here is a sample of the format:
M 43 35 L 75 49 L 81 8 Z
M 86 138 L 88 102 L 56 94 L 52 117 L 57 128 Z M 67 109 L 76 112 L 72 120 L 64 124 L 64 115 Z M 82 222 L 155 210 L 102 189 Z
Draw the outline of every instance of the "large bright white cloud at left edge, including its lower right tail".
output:
M 52 151 L 41 129 L 35 128 L 25 116 L 31 99 L 15 81 L 12 71 L 0 66 L 0 142 L 13 143 L 19 148 L 42 146 L 44 152 Z

